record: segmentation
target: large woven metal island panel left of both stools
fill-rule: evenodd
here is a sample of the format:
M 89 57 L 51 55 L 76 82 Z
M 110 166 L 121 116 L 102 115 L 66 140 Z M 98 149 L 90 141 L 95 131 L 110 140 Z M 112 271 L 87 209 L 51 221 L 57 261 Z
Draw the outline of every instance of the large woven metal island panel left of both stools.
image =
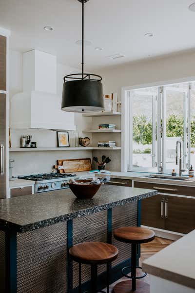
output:
M 66 292 L 66 222 L 17 234 L 17 293 Z

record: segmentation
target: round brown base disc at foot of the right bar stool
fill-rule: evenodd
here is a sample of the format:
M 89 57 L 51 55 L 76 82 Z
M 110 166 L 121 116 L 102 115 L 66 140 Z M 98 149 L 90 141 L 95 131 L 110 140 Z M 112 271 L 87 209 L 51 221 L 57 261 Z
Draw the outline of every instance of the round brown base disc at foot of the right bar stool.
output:
M 122 281 L 117 283 L 113 289 L 113 293 L 150 293 L 150 286 L 143 281 L 137 282 L 135 291 L 131 290 L 132 281 Z

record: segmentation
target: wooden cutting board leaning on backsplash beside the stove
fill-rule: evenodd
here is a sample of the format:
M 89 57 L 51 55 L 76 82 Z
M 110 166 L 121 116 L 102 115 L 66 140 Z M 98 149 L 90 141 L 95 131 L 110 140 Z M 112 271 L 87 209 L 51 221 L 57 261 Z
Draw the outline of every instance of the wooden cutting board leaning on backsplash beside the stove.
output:
M 91 159 L 57 160 L 59 173 L 82 172 L 92 170 Z

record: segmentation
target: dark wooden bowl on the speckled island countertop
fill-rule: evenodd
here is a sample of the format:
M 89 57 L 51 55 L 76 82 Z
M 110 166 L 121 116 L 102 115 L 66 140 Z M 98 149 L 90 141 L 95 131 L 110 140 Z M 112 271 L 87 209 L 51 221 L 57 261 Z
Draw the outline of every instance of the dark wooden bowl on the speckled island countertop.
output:
M 76 180 L 76 182 L 91 182 L 91 180 Z M 92 198 L 98 189 L 101 186 L 101 183 L 96 184 L 74 184 L 69 183 L 70 189 L 73 191 L 75 196 L 77 196 L 78 199 L 90 199 Z

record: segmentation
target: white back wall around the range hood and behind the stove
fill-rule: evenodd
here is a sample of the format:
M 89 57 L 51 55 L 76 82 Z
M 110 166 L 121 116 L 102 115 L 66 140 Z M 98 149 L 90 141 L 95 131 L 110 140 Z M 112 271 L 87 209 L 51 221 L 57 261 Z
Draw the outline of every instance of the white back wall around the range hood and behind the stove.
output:
M 57 93 L 62 94 L 63 77 L 67 74 L 77 73 L 77 68 L 57 64 Z M 9 91 L 10 100 L 16 93 L 23 91 L 23 55 L 18 51 L 10 50 L 9 63 Z M 39 105 L 38 105 L 39 106 Z M 76 113 L 75 125 L 78 126 L 80 136 L 83 129 L 90 129 L 92 118 L 83 118 L 82 114 Z M 36 141 L 39 147 L 57 146 L 56 131 L 51 130 L 19 130 L 11 129 L 12 147 L 20 146 L 21 135 L 32 135 L 32 141 Z M 92 138 L 91 135 L 89 135 Z M 10 152 L 10 159 L 15 160 L 13 175 L 50 172 L 58 159 L 91 158 L 91 151 L 48 151 L 48 152 Z

